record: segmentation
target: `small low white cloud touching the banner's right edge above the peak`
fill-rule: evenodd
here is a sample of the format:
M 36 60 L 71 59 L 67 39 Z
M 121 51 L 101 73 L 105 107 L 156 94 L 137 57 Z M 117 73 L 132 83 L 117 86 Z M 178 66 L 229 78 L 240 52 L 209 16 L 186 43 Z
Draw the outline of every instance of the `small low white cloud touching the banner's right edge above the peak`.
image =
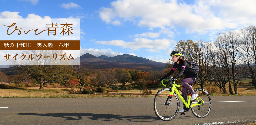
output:
M 117 55 L 122 55 L 123 53 L 118 53 L 118 52 L 114 52 L 112 51 L 112 49 L 108 48 L 108 49 L 94 49 L 94 48 L 89 48 L 89 49 L 82 49 L 80 47 L 80 55 L 83 55 L 85 53 L 90 53 L 94 56 L 101 56 L 101 55 L 106 55 L 106 56 L 117 56 Z

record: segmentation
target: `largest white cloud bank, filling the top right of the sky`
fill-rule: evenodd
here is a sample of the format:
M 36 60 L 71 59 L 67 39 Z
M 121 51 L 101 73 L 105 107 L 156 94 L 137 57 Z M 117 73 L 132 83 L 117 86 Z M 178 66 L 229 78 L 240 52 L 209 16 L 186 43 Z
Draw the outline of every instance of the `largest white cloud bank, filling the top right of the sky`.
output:
M 185 27 L 187 33 L 205 34 L 210 30 L 255 25 L 254 5 L 255 0 L 207 0 L 195 4 L 177 0 L 118 0 L 110 3 L 109 8 L 99 9 L 99 15 L 110 24 L 130 20 L 149 29 Z

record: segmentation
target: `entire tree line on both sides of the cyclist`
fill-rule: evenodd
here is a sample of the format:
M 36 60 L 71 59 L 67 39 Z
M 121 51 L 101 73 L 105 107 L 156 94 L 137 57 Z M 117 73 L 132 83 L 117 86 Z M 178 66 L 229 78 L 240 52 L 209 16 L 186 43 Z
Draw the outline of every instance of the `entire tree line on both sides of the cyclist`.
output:
M 237 84 L 244 74 L 252 77 L 252 85 L 256 88 L 256 27 L 253 25 L 240 30 L 220 32 L 213 42 L 180 40 L 175 50 L 182 52 L 183 59 L 195 62 L 199 66 L 198 84 L 201 88 L 204 88 L 205 83 L 213 82 L 222 92 L 227 93 L 228 83 L 229 93 L 237 94 Z M 172 66 L 173 62 L 169 61 L 166 65 L 168 69 L 161 72 L 131 69 L 107 69 L 96 72 L 92 67 L 82 65 L 16 65 L 17 73 L 6 76 L 0 72 L 0 81 L 20 83 L 30 80 L 29 82 L 40 84 L 40 89 L 43 89 L 46 83 L 67 86 L 71 80 L 78 81 L 80 90 L 84 86 L 114 88 L 117 83 L 121 83 L 122 87 L 127 83 L 134 83 L 142 88 L 145 85 L 158 85 L 159 76 L 169 72 Z M 177 72 L 174 72 L 173 76 L 175 74 Z M 178 82 L 179 80 L 182 78 L 178 79 Z

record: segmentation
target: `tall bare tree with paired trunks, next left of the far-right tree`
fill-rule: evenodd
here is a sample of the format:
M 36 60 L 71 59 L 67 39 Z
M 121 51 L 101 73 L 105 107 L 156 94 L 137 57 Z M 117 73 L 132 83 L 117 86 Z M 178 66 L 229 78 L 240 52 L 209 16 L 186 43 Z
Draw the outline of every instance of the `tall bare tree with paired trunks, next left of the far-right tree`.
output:
M 229 30 L 228 33 L 220 33 L 216 38 L 216 45 L 219 47 L 218 58 L 222 63 L 222 66 L 224 66 L 228 77 L 230 94 L 233 94 L 231 80 L 233 81 L 235 94 L 237 94 L 238 78 L 241 68 L 243 68 L 241 63 L 240 44 L 240 36 L 233 30 Z

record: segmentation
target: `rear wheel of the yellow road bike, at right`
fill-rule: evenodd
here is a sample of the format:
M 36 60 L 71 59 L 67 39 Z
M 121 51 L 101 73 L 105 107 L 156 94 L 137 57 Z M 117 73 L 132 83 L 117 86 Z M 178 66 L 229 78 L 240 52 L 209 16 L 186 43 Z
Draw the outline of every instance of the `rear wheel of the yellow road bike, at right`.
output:
M 202 105 L 194 106 L 191 108 L 192 113 L 198 118 L 206 117 L 211 110 L 211 98 L 207 91 L 204 89 L 196 89 L 195 92 L 199 95 L 192 104 L 203 103 Z

